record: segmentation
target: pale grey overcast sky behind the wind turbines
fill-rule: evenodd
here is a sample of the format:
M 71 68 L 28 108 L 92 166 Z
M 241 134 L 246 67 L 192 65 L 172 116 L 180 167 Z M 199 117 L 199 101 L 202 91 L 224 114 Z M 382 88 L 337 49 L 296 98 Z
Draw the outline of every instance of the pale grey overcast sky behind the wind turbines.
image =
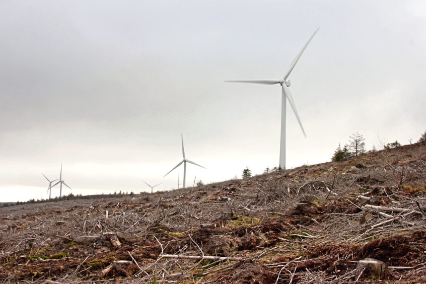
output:
M 426 2 L 1 1 L 0 201 L 151 189 L 278 166 L 280 79 L 287 168 L 426 130 Z M 58 188 L 52 194 L 58 195 Z M 65 194 L 71 192 L 63 190 Z

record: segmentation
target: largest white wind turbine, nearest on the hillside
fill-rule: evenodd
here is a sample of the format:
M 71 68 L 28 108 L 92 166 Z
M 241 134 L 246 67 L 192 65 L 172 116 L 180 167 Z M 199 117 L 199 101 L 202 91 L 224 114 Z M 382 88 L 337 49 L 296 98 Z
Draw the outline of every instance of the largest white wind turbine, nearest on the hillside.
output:
M 295 103 L 293 101 L 292 94 L 290 93 L 290 80 L 287 80 L 293 68 L 295 67 L 297 61 L 300 56 L 302 56 L 303 51 L 305 51 L 309 42 L 312 40 L 314 35 L 318 32 L 319 28 L 314 32 L 296 58 L 293 60 L 292 64 L 290 64 L 289 70 L 287 73 L 279 80 L 250 80 L 250 81 L 225 81 L 225 82 L 234 82 L 234 83 L 254 83 L 254 84 L 263 84 L 263 85 L 281 85 L 281 139 L 280 139 L 280 147 L 279 147 L 279 167 L 282 169 L 286 169 L 286 108 L 287 108 L 287 99 L 289 100 L 290 105 L 296 115 L 297 121 L 299 122 L 300 128 L 302 128 L 303 135 L 305 135 L 305 130 L 303 129 L 302 122 L 300 121 L 299 114 L 297 113 Z

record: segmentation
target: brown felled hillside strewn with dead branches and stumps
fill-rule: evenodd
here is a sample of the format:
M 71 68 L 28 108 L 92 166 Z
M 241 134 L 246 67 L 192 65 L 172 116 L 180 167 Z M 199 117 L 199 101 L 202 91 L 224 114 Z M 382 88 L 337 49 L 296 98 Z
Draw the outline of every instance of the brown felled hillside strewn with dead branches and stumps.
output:
M 383 282 L 426 282 L 425 193 L 423 143 L 171 192 L 3 207 L 0 279 L 375 282 L 357 270 L 375 258 Z

